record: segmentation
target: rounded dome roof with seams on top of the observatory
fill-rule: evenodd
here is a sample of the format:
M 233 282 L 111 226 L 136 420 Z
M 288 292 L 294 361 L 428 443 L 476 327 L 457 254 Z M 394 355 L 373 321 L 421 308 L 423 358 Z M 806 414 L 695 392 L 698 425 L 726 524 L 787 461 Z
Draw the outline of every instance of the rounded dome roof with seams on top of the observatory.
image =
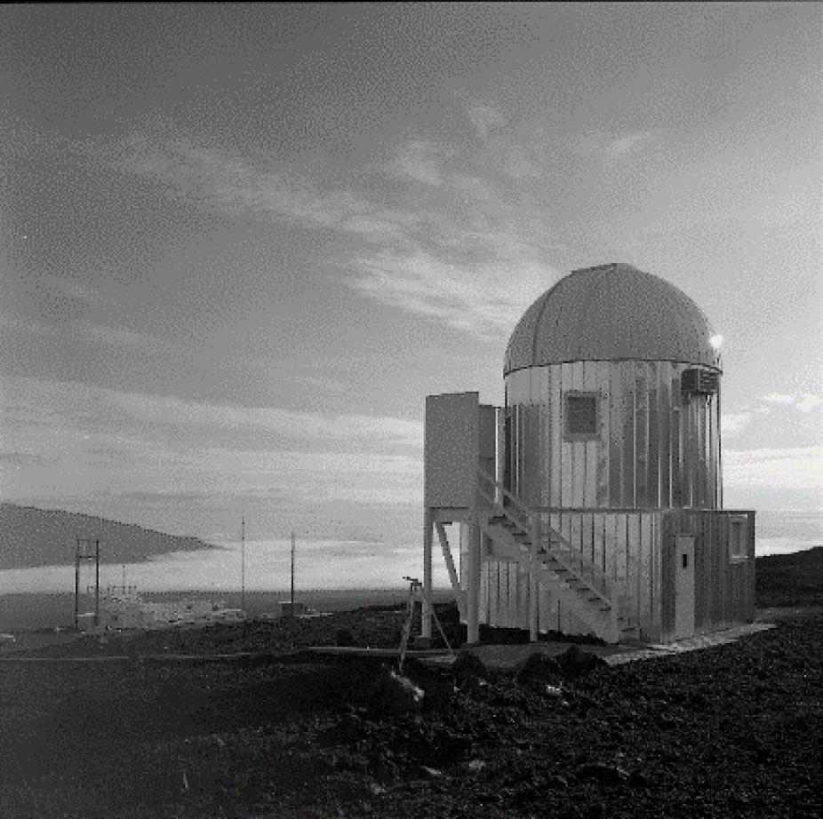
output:
M 509 338 L 503 372 L 620 360 L 719 367 L 711 336 L 699 306 L 674 285 L 631 265 L 587 267 L 526 310 Z

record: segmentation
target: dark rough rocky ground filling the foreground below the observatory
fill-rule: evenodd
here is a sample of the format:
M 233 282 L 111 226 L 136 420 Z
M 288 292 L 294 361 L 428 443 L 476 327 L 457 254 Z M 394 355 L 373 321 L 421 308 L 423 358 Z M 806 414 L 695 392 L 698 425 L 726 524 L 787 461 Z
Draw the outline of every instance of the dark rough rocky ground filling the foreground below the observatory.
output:
M 0 663 L 0 813 L 821 815 L 819 612 L 617 667 L 571 644 L 507 672 L 468 657 L 451 671 L 408 662 L 418 703 L 380 659 L 300 651 L 395 646 L 403 619 L 368 608 L 103 648 L 78 640 L 50 648 L 51 662 Z M 253 653 L 264 649 L 279 656 Z M 238 650 L 252 654 L 214 659 Z M 169 656 L 187 653 L 202 659 Z

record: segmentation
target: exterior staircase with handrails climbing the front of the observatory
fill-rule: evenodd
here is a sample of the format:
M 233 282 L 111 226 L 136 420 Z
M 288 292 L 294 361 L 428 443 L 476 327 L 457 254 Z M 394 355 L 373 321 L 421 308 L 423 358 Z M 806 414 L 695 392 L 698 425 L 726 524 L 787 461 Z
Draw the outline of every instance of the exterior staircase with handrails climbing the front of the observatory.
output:
M 575 549 L 539 515 L 523 505 L 483 469 L 478 471 L 481 526 L 493 555 L 531 569 L 538 561 L 539 583 L 606 642 L 636 641 L 638 625 L 619 610 L 620 584 Z

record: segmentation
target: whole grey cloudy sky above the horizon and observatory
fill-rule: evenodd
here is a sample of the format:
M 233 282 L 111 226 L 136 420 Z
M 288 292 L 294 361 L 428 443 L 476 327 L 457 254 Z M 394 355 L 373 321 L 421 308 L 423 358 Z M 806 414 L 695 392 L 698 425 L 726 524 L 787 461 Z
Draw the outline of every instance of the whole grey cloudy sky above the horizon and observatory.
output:
M 426 394 L 625 261 L 725 338 L 727 505 L 823 506 L 819 4 L 0 11 L 0 489 L 419 543 Z

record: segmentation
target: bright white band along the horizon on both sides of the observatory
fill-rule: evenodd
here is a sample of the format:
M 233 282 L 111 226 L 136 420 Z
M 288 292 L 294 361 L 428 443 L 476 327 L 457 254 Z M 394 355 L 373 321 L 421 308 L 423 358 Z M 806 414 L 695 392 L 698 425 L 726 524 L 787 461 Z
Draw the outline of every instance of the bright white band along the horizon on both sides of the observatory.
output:
M 757 555 L 799 552 L 823 545 L 823 512 L 758 512 Z M 452 544 L 456 552 L 456 544 Z M 402 588 L 404 576 L 422 576 L 421 545 L 364 541 L 297 541 L 295 584 L 299 589 Z M 245 553 L 245 556 L 244 556 Z M 142 591 L 203 589 L 236 591 L 245 581 L 250 591 L 289 587 L 291 542 L 284 540 L 227 542 L 216 548 L 169 553 L 142 563 L 104 564 L 100 586 L 135 585 Z M 435 587 L 449 584 L 439 549 L 435 549 Z M 43 566 L 0 571 L 0 594 L 74 592 L 73 566 Z M 81 589 L 93 585 L 84 568 Z

